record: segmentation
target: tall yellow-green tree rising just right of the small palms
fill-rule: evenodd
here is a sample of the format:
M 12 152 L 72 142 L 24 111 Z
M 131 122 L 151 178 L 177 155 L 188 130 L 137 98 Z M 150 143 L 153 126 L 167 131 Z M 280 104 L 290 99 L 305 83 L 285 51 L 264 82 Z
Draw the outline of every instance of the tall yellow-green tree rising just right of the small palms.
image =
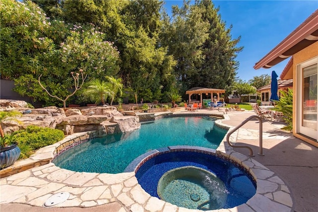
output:
M 159 100 L 175 64 L 159 43 L 161 4 L 158 0 L 136 0 L 122 10 L 130 34 L 129 40 L 126 36 L 118 40 L 119 49 L 122 47 L 120 77 L 145 101 Z

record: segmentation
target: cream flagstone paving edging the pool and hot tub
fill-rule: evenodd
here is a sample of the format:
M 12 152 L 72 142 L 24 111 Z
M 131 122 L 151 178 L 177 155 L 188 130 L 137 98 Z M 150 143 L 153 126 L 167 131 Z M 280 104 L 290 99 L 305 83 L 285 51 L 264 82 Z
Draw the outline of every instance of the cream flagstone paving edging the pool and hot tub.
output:
M 223 116 L 225 119 L 229 118 L 227 115 Z M 228 128 L 230 131 L 234 129 L 232 126 L 222 124 L 222 120 L 215 122 L 218 126 Z M 67 136 L 62 141 L 39 149 L 28 159 L 17 161 L 12 165 L 13 167 L 2 169 L 0 188 L 11 192 L 5 197 L 2 195 L 0 203 L 23 203 L 41 207 L 53 194 L 63 191 L 70 192 L 71 196 L 56 207 L 92 207 L 119 201 L 131 211 L 198 211 L 178 208 L 158 198 L 151 197 L 138 184 L 135 172 L 119 174 L 74 172 L 59 168 L 51 163 L 54 156 L 67 146 L 98 136 L 96 132 Z M 237 136 L 238 132 L 233 133 L 230 137 L 231 142 L 235 142 Z M 293 200 L 290 190 L 274 172 L 251 157 L 233 150 L 227 144 L 226 136 L 216 152 L 245 167 L 254 177 L 257 189 L 256 194 L 246 204 L 232 209 L 214 211 L 292 211 Z M 10 170 L 6 172 L 8 169 Z M 22 172 L 17 173 L 17 170 Z M 12 176 L 7 174 L 8 177 L 3 176 L 6 173 L 16 174 Z

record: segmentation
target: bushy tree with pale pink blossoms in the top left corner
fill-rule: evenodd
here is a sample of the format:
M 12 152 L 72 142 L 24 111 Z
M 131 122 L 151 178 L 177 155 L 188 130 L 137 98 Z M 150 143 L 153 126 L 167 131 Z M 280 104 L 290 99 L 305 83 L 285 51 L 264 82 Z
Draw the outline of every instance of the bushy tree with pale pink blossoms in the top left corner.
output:
M 1 78 L 14 79 L 41 70 L 41 61 L 54 44 L 46 37 L 51 25 L 46 14 L 31 1 L 0 1 Z

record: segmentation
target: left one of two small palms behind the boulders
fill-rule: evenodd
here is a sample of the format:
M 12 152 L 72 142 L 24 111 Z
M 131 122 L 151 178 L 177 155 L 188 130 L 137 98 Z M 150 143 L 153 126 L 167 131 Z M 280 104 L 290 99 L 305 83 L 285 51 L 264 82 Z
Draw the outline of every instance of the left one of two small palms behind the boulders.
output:
M 95 104 L 101 102 L 103 105 L 108 97 L 113 98 L 114 96 L 110 84 L 105 81 L 100 81 L 99 79 L 90 80 L 88 82 L 88 87 L 84 89 L 83 94 L 91 101 L 95 101 Z

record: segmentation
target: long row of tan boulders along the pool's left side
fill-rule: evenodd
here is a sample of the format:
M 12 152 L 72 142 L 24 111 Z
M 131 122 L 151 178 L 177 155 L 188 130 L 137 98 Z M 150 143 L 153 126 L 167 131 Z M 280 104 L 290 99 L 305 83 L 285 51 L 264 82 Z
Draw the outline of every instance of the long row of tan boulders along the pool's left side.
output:
M 21 112 L 22 117 L 19 117 L 19 120 L 22 124 L 4 121 L 1 123 L 4 133 L 12 133 L 33 125 L 59 129 L 62 130 L 65 135 L 86 131 L 97 131 L 98 135 L 111 135 L 130 132 L 139 129 L 141 126 L 139 117 L 136 116 L 135 112 L 128 112 L 125 114 L 128 116 L 124 116 L 118 112 L 115 107 L 109 106 L 93 107 L 81 111 L 79 109 L 64 111 L 64 109 L 55 106 L 39 109 L 24 107 L 1 108 L 1 110 L 5 111 L 12 109 Z

